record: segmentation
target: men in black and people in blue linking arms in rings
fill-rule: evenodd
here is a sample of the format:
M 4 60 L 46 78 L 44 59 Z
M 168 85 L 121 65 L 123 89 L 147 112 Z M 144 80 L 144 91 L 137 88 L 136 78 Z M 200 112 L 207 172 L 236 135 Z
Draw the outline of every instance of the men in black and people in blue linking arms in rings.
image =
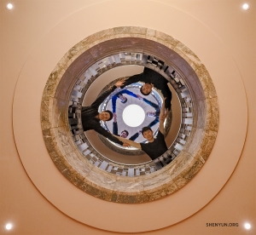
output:
M 132 83 L 143 83 L 143 86 L 140 89 L 140 92 L 143 96 L 147 96 L 151 93 L 153 87 L 159 89 L 164 96 L 164 102 L 162 106 L 158 106 L 154 102 L 143 98 L 142 95 L 136 95 L 125 89 L 125 86 Z M 106 110 L 103 112 L 98 112 L 98 107 L 102 104 L 108 95 L 111 95 L 114 89 L 122 89 L 117 94 L 112 97 L 112 107 L 113 112 Z M 131 95 L 137 99 L 143 100 L 149 106 L 153 106 L 155 111 L 148 112 L 147 115 L 154 117 L 154 121 L 148 124 L 148 126 L 143 127 L 135 135 L 132 135 L 127 139 L 129 133 L 127 130 L 122 130 L 120 135 L 118 134 L 118 125 L 117 125 L 117 116 L 116 116 L 116 100 L 119 99 L 123 104 L 127 102 L 127 97 L 125 95 Z M 164 122 L 168 115 L 168 112 L 171 110 L 171 101 L 172 101 L 172 92 L 169 89 L 168 81 L 165 77 L 161 76 L 160 73 L 155 72 L 147 67 L 144 67 L 142 73 L 129 77 L 128 79 L 120 79 L 113 87 L 109 88 L 107 91 L 102 93 L 90 106 L 83 106 L 81 111 L 81 118 L 84 131 L 94 129 L 100 135 L 105 136 L 108 140 L 111 140 L 120 146 L 134 146 L 138 149 L 146 152 L 152 160 L 160 157 L 168 149 L 166 146 L 166 141 L 164 138 Z M 110 121 L 113 119 L 113 133 L 110 133 L 108 130 L 104 129 L 100 121 Z M 154 133 L 151 127 L 156 123 L 159 123 L 158 134 L 154 138 Z M 137 143 L 135 140 L 138 135 L 143 135 L 143 137 L 148 140 L 147 143 Z

